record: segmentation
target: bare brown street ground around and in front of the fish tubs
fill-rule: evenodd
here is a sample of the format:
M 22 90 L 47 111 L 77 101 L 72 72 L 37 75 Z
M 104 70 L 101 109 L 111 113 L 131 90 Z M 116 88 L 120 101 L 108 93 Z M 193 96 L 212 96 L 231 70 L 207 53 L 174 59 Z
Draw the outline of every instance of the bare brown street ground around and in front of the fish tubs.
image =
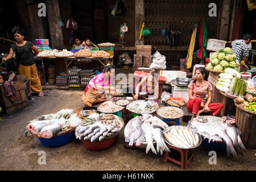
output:
M 164 155 L 146 154 L 144 150 L 123 147 L 123 130 L 114 146 L 104 151 L 87 150 L 80 140 L 54 148 L 42 146 L 38 138 L 24 129 L 32 119 L 56 113 L 61 109 L 82 109 L 83 91 L 44 90 L 44 97 L 33 96 L 28 107 L 17 111 L 0 121 L 0 170 L 180 170 L 172 162 L 164 162 Z M 125 124 L 132 117 L 125 115 Z M 129 118 L 130 117 L 130 118 Z M 174 125 L 168 122 L 168 125 Z M 181 122 L 181 125 L 187 125 Z M 39 151 L 46 152 L 46 164 L 39 165 Z M 188 170 L 256 170 L 256 150 L 247 150 L 244 156 L 232 160 L 226 158 L 226 152 L 217 152 L 217 164 L 209 164 L 209 151 L 203 147 L 194 149 L 194 159 L 188 164 Z

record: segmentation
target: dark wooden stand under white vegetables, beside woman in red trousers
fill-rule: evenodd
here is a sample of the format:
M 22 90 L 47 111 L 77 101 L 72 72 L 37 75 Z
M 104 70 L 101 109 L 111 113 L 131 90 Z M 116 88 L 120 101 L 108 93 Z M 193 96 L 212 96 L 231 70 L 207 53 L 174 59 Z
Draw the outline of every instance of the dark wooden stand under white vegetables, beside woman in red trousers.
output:
M 220 98 L 221 98 L 221 104 L 223 105 L 223 108 L 221 109 L 220 112 L 220 117 L 224 117 L 228 114 L 235 113 L 236 111 L 236 106 L 234 105 L 234 100 L 233 98 L 230 98 L 226 93 L 220 92 Z

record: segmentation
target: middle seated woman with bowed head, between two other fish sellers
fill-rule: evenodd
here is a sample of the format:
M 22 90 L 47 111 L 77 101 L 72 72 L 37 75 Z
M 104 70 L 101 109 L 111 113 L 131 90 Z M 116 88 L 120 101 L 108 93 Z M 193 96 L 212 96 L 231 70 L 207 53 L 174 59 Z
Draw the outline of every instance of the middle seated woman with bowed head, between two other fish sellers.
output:
M 135 100 L 138 100 L 139 92 L 141 92 L 141 87 L 146 86 L 146 97 L 141 96 L 144 100 L 154 100 L 158 102 L 158 96 L 159 96 L 159 84 L 158 84 L 158 73 L 153 71 L 150 72 L 150 77 L 147 78 L 145 76 L 142 78 L 141 82 L 136 86 L 136 88 L 133 90 L 135 94 L 133 93 L 133 98 Z

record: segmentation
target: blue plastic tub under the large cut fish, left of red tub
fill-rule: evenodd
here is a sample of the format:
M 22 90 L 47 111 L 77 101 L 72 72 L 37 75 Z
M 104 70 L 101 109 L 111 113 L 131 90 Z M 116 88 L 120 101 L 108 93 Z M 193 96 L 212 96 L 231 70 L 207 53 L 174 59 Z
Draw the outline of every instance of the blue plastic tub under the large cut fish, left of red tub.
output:
M 66 133 L 64 135 L 60 135 L 59 137 L 53 137 L 49 139 L 46 139 L 46 138 L 38 138 L 38 139 L 43 146 L 57 147 L 70 142 L 73 138 L 75 138 L 75 130 L 69 133 Z

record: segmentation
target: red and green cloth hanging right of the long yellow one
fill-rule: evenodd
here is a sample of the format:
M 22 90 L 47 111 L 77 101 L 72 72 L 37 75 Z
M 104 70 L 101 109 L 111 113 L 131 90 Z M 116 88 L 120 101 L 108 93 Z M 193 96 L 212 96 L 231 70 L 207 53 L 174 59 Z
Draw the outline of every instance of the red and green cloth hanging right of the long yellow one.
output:
M 205 47 L 207 47 L 207 27 L 205 25 L 204 18 L 201 23 L 199 41 L 200 49 L 197 53 L 197 57 L 199 57 L 200 59 L 204 59 L 207 57 L 207 52 L 205 51 Z

